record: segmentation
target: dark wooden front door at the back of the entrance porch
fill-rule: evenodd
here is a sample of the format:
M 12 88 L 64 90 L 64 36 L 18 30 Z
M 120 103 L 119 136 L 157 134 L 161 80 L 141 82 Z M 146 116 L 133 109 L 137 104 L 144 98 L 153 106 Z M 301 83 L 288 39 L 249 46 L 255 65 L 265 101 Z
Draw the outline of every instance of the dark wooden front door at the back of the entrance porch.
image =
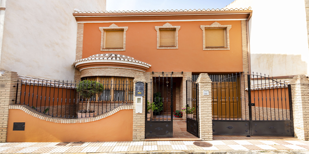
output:
M 176 85 L 173 83 L 173 85 Z M 171 97 L 173 97 L 173 107 L 176 107 L 176 99 L 175 99 L 175 89 L 176 87 L 173 86 L 173 96 L 171 96 L 171 84 L 165 83 L 162 87 L 163 91 L 163 112 L 170 112 L 171 111 Z

